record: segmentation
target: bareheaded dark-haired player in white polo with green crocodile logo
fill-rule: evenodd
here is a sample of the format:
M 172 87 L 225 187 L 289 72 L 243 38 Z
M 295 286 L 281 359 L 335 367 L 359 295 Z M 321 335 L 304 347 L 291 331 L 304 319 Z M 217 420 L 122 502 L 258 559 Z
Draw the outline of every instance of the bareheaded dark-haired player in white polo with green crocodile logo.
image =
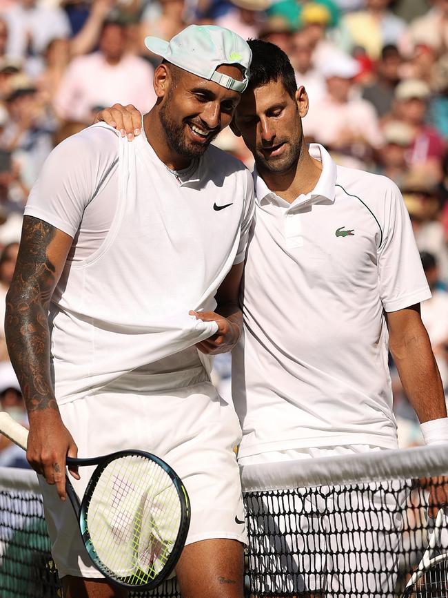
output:
M 264 41 L 249 45 L 250 82 L 231 125 L 254 155 L 256 189 L 241 294 L 244 339 L 232 354 L 233 398 L 243 426 L 238 462 L 272 463 L 275 470 L 280 461 L 396 448 L 388 348 L 425 442 L 446 443 L 445 397 L 420 319 L 419 303 L 431 293 L 400 191 L 385 177 L 336 166 L 319 144 L 308 148 L 301 122 L 308 98 L 287 55 Z M 120 106 L 99 116 L 131 134 L 139 122 L 138 113 Z M 446 503 L 445 490 L 434 503 Z M 368 514 L 351 530 L 338 529 L 336 504 L 334 525 L 324 532 L 314 504 L 311 515 L 304 514 L 299 490 L 297 528 L 277 539 L 282 554 L 289 545 L 296 574 L 272 576 L 283 583 L 267 588 L 272 595 L 317 597 L 333 589 L 348 597 L 353 583 L 389 595 L 400 520 L 381 489 L 371 492 L 368 506 L 391 520 L 387 544 L 367 532 Z M 263 546 L 274 554 L 276 546 L 266 546 L 278 519 L 264 515 L 254 523 L 260 526 L 254 537 L 263 539 L 264 525 Z M 387 562 L 375 552 L 383 545 L 392 547 Z M 329 557 L 310 555 L 305 546 L 325 546 Z M 342 566 L 338 559 L 353 546 L 358 553 Z M 269 580 L 268 559 L 260 559 L 257 574 L 263 566 Z

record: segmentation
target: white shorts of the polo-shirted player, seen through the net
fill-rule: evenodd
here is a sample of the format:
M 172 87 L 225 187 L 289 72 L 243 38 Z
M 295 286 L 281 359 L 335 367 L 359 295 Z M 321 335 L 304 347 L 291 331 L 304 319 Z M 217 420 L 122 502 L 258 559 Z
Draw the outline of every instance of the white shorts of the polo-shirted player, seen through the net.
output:
M 369 445 L 261 453 L 240 465 L 380 450 Z M 323 486 L 245 496 L 254 595 L 317 592 L 339 598 L 393 598 L 404 484 Z

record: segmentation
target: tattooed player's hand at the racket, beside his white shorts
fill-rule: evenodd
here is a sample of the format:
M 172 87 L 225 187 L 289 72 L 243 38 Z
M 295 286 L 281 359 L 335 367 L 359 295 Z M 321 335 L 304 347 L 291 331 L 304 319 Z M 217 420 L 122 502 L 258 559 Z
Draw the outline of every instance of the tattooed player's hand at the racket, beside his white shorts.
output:
M 65 458 L 76 458 L 78 447 L 56 409 L 31 412 L 29 419 L 28 463 L 47 483 L 56 485 L 59 497 L 65 501 Z M 77 467 L 70 467 L 69 470 L 75 479 L 79 479 Z

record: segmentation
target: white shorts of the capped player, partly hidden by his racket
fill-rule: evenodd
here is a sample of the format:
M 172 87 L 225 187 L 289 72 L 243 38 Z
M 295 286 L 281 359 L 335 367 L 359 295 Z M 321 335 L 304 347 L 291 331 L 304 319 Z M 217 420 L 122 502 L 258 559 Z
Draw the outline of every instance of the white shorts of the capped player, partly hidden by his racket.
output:
M 233 406 L 211 383 L 162 393 L 99 392 L 59 409 L 79 457 L 139 449 L 173 467 L 190 496 L 187 544 L 218 538 L 247 544 L 245 523 L 239 523 L 245 518 L 234 453 L 241 428 Z M 80 467 L 81 481 L 70 476 L 80 497 L 91 471 Z M 70 501 L 60 501 L 41 476 L 39 482 L 59 577 L 102 577 L 85 551 Z

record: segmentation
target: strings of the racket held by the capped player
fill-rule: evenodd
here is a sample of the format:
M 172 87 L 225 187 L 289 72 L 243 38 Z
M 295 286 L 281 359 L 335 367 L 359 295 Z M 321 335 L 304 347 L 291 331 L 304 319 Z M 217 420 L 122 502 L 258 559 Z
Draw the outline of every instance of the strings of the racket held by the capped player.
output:
M 130 585 L 152 581 L 167 563 L 181 525 L 171 477 L 144 456 L 109 463 L 92 492 L 87 528 L 111 577 Z

